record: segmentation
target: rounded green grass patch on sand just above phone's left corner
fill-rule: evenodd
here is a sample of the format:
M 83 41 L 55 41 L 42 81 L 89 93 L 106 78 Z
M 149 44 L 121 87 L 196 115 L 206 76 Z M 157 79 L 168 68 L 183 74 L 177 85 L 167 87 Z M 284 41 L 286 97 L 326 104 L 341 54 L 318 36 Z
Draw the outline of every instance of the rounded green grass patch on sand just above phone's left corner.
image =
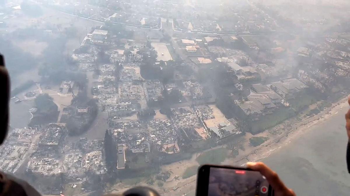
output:
M 200 165 L 203 164 L 220 164 L 226 159 L 228 150 L 226 148 L 218 148 L 210 151 L 203 152 L 197 157 L 197 162 Z

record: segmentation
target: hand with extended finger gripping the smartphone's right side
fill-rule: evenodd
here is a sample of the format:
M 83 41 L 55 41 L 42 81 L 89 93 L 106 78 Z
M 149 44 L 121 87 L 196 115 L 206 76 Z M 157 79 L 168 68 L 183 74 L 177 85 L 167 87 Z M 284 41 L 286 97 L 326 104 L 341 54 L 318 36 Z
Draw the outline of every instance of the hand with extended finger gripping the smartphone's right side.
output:
M 274 196 L 295 196 L 294 191 L 286 187 L 286 185 L 279 178 L 278 174 L 267 167 L 264 163 L 248 162 L 247 167 L 254 171 L 258 171 L 261 173 L 261 175 L 265 176 L 266 180 L 274 190 Z

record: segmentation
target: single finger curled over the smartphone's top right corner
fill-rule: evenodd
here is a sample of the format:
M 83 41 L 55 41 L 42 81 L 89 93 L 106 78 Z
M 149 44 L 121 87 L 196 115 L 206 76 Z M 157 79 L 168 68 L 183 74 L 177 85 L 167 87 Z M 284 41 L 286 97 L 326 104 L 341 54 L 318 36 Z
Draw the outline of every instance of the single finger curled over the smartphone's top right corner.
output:
M 283 184 L 279 176 L 276 172 L 272 171 L 269 167 L 267 167 L 264 163 L 257 162 L 248 162 L 247 167 L 253 169 L 254 171 L 260 172 L 263 176 L 265 176 L 266 180 L 269 184 L 271 184 L 272 188 L 275 191 L 286 191 L 287 187 Z

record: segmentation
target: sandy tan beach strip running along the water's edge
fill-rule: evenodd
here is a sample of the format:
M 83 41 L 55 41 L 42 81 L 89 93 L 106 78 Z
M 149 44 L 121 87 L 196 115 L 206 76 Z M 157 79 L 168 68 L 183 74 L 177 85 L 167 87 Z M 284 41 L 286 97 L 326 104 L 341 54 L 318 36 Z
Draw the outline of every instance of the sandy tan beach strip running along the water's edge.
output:
M 331 107 L 325 108 L 324 111 L 320 112 L 319 114 L 313 117 L 310 117 L 309 119 L 305 119 L 297 123 L 294 123 L 293 125 L 295 126 L 290 127 L 290 124 L 293 122 L 293 120 L 295 120 L 295 118 L 293 118 L 293 120 L 291 121 L 286 120 L 280 125 L 277 125 L 271 129 L 267 129 L 263 131 L 262 133 L 254 135 L 254 136 L 269 136 L 270 138 L 266 142 L 262 143 L 260 146 L 257 146 L 257 147 L 249 146 L 249 142 L 246 142 L 247 143 L 246 146 L 249 146 L 248 148 L 246 148 L 244 151 L 240 150 L 239 155 L 235 158 L 232 158 L 232 157 L 226 158 L 226 160 L 224 160 L 221 164 L 245 166 L 245 164 L 248 161 L 256 162 L 261 159 L 267 158 L 273 152 L 283 148 L 295 138 L 300 137 L 304 133 L 307 133 L 310 130 L 310 128 L 312 128 L 313 126 L 319 125 L 321 122 L 327 121 L 330 116 L 337 114 L 342 108 L 348 106 L 348 103 L 347 103 L 348 98 L 349 96 L 346 96 L 345 98 L 333 103 Z M 281 129 L 283 131 L 279 135 L 273 135 L 269 132 L 271 130 L 276 130 L 276 129 Z M 345 131 L 344 131 L 344 134 L 345 134 Z M 249 137 L 250 135 L 248 135 L 247 137 Z M 195 155 L 196 154 L 194 154 L 194 156 Z M 187 162 L 187 164 L 184 164 L 187 166 L 198 164 L 197 162 L 191 163 L 191 161 L 193 161 L 193 158 L 182 162 Z M 179 163 L 176 162 L 173 164 L 167 165 L 165 167 L 168 167 L 168 168 L 174 167 Z M 182 173 L 181 174 L 178 173 L 177 175 L 181 176 Z M 186 180 L 180 180 L 178 181 L 179 183 L 177 183 L 177 187 L 178 187 L 177 190 L 173 190 L 172 188 L 167 188 L 165 191 L 160 191 L 160 194 L 161 195 L 179 195 L 179 194 L 184 195 L 186 193 L 187 195 L 191 195 L 192 192 L 194 193 L 196 188 L 196 179 L 197 179 L 197 175 L 191 176 Z

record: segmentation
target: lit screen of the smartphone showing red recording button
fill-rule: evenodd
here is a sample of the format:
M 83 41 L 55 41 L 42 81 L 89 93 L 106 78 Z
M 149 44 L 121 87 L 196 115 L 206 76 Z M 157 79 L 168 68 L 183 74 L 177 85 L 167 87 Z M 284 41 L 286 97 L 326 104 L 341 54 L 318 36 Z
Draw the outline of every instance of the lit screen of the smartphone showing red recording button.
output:
M 208 196 L 267 196 L 268 187 L 259 172 L 210 167 Z

